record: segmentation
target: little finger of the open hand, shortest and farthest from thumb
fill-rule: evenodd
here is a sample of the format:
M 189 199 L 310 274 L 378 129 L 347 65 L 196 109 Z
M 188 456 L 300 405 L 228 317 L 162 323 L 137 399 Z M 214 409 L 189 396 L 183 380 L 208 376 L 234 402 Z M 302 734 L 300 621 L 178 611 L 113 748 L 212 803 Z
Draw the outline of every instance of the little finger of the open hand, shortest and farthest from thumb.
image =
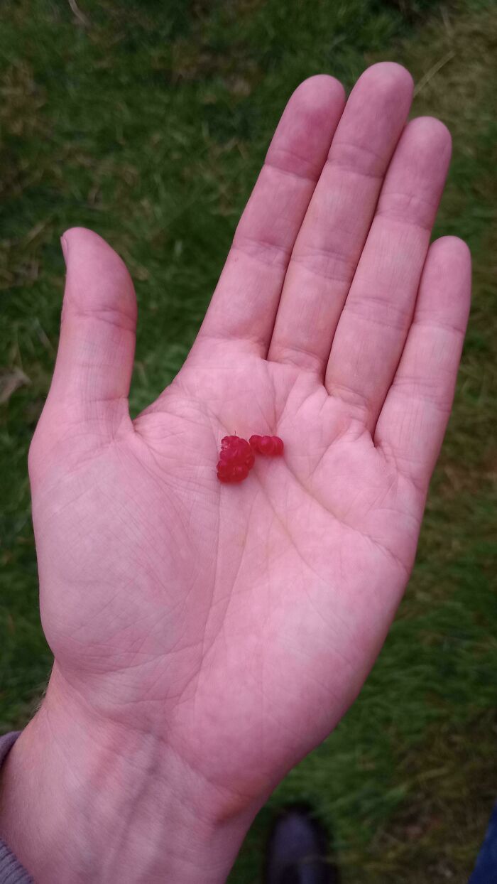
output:
M 425 493 L 448 422 L 471 299 L 470 250 L 456 237 L 428 251 L 418 301 L 374 442 Z

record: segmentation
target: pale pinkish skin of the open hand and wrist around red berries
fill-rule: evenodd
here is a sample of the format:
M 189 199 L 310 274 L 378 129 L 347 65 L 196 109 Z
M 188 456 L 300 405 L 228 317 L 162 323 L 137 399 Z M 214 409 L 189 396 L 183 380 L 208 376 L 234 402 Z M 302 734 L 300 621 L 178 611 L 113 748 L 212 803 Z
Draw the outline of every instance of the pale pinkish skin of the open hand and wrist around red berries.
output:
M 39 884 L 225 880 L 254 814 L 373 666 L 471 289 L 464 243 L 429 245 L 450 136 L 407 123 L 411 94 L 388 63 L 346 104 L 332 77 L 297 89 L 192 352 L 134 421 L 131 278 L 94 232 L 64 234 L 29 459 L 55 664 L 0 815 Z M 235 432 L 285 451 L 223 485 Z

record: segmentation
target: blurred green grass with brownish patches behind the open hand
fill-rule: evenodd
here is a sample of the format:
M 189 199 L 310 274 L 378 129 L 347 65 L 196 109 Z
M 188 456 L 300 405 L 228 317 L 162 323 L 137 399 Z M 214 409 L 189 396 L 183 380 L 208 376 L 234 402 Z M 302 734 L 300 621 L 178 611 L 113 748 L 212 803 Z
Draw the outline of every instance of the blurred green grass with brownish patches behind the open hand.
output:
M 26 450 L 56 347 L 58 236 L 92 226 L 129 263 L 137 411 L 187 353 L 291 89 L 323 70 L 350 86 L 393 58 L 417 80 L 414 113 L 439 115 L 454 134 L 437 232 L 467 239 L 475 261 L 456 408 L 380 660 L 340 727 L 260 813 L 231 880 L 258 880 L 272 814 L 304 798 L 334 827 L 348 884 L 463 884 L 497 791 L 497 10 L 491 0 L 79 4 L 84 19 L 62 0 L 2 5 L 0 727 L 22 726 L 50 665 Z

